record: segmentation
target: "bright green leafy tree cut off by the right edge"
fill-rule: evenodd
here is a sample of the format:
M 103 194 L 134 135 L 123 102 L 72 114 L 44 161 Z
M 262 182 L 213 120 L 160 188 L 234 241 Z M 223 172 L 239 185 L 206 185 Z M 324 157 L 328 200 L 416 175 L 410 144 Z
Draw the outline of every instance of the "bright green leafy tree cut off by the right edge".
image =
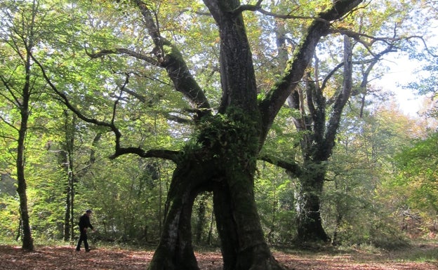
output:
M 414 142 L 412 147 L 406 147 L 397 155 L 399 175 L 386 185 L 390 189 L 388 194 L 394 197 L 401 229 L 410 236 L 426 231 L 433 237 L 438 231 L 437 170 L 434 166 L 437 133 Z

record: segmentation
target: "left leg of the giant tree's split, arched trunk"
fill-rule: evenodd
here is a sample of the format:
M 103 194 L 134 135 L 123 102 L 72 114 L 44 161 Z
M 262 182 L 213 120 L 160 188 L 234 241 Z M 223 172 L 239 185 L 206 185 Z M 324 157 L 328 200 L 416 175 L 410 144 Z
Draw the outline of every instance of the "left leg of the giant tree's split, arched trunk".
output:
M 192 247 L 192 208 L 197 195 L 208 190 L 212 168 L 196 154 L 187 154 L 182 159 L 173 173 L 168 213 L 150 270 L 199 269 Z

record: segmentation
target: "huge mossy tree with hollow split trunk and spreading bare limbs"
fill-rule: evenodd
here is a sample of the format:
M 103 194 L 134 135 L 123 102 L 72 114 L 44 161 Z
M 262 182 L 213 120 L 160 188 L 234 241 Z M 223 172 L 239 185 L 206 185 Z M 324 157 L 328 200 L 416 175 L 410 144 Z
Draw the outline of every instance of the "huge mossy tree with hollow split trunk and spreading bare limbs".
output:
M 192 248 L 190 218 L 194 199 L 206 190 L 213 191 L 224 269 L 281 269 L 265 242 L 255 208 L 255 163 L 275 116 L 303 78 L 319 40 L 331 34 L 336 22 L 352 15 L 360 3 L 359 0 L 324 1 L 317 8 L 320 12 L 312 11 L 314 15 L 311 16 L 277 15 L 282 18 L 304 18 L 310 23 L 284 67 L 284 74 L 277 78 L 270 89 L 265 90 L 258 88 L 244 13 L 259 11 L 265 15 L 274 14 L 264 10 L 261 1 L 255 5 L 241 5 L 234 0 L 205 0 L 207 10 L 197 7 L 193 11 L 194 14 L 211 15 L 218 29 L 218 71 L 222 97 L 217 102 L 218 106 L 212 107 L 211 100 L 207 99 L 205 90 L 195 79 L 187 66 L 187 59 L 177 46 L 177 41 L 180 41 L 178 36 L 162 34 L 160 23 L 163 21 L 159 20 L 158 13 L 168 6 L 131 1 L 142 15 L 142 22 L 152 41 L 150 48 L 134 50 L 114 45 L 113 48 L 89 52 L 88 55 L 104 60 L 106 57 L 112 59 L 112 55 L 124 55 L 165 70 L 173 88 L 182 93 L 183 100 L 192 106 L 194 133 L 180 150 L 142 149 L 124 145 L 118 128 L 121 125 L 117 121 L 118 109 L 126 109 L 126 95 L 134 95 L 140 100 L 143 98 L 128 88 L 132 72 L 126 71 L 126 80 L 119 83 L 120 94 L 114 98 L 110 120 L 95 119 L 81 113 L 79 106 L 69 100 L 70 90 L 60 88 L 56 81 L 52 81 L 53 75 L 44 69 L 44 62 L 34 58 L 44 71 L 46 81 L 69 109 L 76 112 L 80 119 L 114 132 L 113 158 L 137 154 L 175 162 L 176 168 L 168 191 L 168 215 L 150 269 L 198 269 Z M 290 10 L 292 8 L 289 7 Z M 180 13 L 184 12 L 184 9 L 180 10 Z M 172 41 L 171 37 L 175 40 Z M 145 50 L 150 53 L 142 53 Z M 196 60 L 196 57 L 192 60 Z M 262 91 L 265 95 L 258 99 L 258 93 Z M 173 119 L 183 121 L 180 118 Z

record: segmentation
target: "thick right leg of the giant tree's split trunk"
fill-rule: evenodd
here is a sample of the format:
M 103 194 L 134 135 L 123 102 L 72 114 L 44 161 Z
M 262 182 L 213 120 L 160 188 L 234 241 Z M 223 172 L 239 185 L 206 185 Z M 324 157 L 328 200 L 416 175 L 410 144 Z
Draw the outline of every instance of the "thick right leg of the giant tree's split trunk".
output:
M 252 177 L 235 173 L 215 184 L 213 200 L 220 236 L 223 269 L 282 269 L 272 257 L 260 226 L 253 196 Z M 231 180 L 231 181 L 230 181 Z

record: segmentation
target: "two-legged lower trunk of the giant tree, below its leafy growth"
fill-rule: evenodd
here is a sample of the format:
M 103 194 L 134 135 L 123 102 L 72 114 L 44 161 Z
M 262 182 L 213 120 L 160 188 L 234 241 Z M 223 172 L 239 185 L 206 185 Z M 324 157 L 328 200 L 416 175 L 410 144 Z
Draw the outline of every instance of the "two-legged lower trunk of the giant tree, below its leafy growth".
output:
M 206 190 L 213 191 L 223 269 L 282 269 L 265 242 L 255 206 L 255 157 L 211 153 L 202 149 L 178 164 L 168 193 L 170 208 L 164 232 L 149 269 L 199 269 L 192 248 L 190 218 L 194 198 Z

